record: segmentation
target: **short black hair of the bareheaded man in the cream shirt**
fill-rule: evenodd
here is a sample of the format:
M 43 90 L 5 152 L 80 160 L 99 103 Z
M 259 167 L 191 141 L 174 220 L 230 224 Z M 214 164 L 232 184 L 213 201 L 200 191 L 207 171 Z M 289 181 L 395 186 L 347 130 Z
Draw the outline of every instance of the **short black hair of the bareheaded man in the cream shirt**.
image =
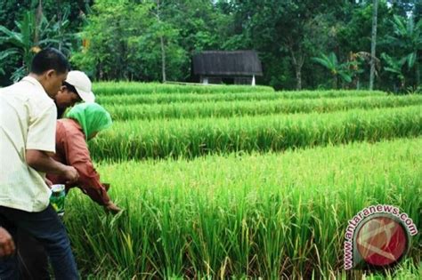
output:
M 69 71 L 69 61 L 65 58 L 63 53 L 54 48 L 46 48 L 38 52 L 31 64 L 31 73 L 41 75 L 45 71 L 53 69 L 59 74 Z

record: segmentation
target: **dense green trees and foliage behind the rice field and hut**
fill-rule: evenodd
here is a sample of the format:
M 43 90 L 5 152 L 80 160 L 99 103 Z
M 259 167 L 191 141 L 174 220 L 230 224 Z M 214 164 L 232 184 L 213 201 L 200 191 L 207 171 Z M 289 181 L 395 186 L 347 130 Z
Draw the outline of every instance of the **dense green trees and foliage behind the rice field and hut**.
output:
M 418 90 L 421 11 L 417 0 L 379 1 L 377 89 Z M 37 16 L 28 22 L 25 12 Z M 254 49 L 264 67 L 258 84 L 368 88 L 372 16 L 369 0 L 1 1 L 0 83 L 24 74 L 35 46 L 53 45 L 101 80 L 194 81 L 193 54 Z M 27 44 L 16 46 L 6 29 Z

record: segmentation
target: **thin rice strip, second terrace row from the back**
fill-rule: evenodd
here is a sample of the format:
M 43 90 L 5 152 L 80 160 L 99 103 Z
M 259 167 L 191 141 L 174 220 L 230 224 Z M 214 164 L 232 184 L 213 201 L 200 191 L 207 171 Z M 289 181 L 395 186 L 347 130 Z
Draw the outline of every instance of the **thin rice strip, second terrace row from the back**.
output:
M 304 92 L 221 92 L 214 93 L 152 93 L 98 95 L 101 105 L 166 104 L 174 102 L 321 99 L 342 97 L 386 96 L 378 91 L 304 91 Z

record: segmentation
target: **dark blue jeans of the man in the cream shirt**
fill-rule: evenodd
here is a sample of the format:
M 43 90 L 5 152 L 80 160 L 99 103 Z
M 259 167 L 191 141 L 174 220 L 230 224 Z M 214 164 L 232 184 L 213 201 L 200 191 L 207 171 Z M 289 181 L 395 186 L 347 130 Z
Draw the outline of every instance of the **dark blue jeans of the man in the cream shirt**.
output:
M 79 279 L 66 229 L 51 205 L 42 212 L 24 212 L 0 206 L 0 225 L 9 231 L 15 244 L 18 244 L 18 229 L 28 232 L 43 244 L 57 280 Z M 19 279 L 16 254 L 0 260 L 0 279 Z

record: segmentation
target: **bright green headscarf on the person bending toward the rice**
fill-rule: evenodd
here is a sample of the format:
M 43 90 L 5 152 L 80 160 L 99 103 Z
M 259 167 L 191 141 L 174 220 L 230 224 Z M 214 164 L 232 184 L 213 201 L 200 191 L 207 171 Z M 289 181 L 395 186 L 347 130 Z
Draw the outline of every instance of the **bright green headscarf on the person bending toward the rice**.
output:
M 71 108 L 66 116 L 76 120 L 82 127 L 85 140 L 94 132 L 101 132 L 112 124 L 109 112 L 97 103 L 79 103 Z

